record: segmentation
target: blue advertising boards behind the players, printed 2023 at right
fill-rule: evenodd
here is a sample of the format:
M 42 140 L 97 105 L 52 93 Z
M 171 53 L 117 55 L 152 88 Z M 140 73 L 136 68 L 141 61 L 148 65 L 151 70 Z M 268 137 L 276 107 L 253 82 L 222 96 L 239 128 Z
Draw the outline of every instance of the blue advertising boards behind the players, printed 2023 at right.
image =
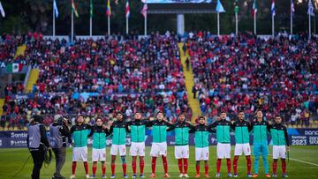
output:
M 318 145 L 318 129 L 288 129 L 289 140 L 291 145 Z M 49 134 L 49 133 L 48 133 Z M 269 145 L 271 145 L 270 138 Z M 151 145 L 151 131 L 147 131 L 146 145 Z M 111 138 L 106 141 L 107 145 L 111 145 Z M 168 145 L 174 145 L 174 132 L 168 132 Z M 216 135 L 211 134 L 209 145 L 216 145 Z M 253 144 L 253 137 L 250 136 L 250 144 Z M 92 140 L 88 140 L 88 146 L 92 145 Z M 126 145 L 131 145 L 131 138 L 126 138 Z M 189 145 L 194 145 L 193 134 L 190 134 Z M 231 145 L 235 145 L 234 133 L 231 132 Z M 0 148 L 26 148 L 27 147 L 27 131 L 0 131 Z

